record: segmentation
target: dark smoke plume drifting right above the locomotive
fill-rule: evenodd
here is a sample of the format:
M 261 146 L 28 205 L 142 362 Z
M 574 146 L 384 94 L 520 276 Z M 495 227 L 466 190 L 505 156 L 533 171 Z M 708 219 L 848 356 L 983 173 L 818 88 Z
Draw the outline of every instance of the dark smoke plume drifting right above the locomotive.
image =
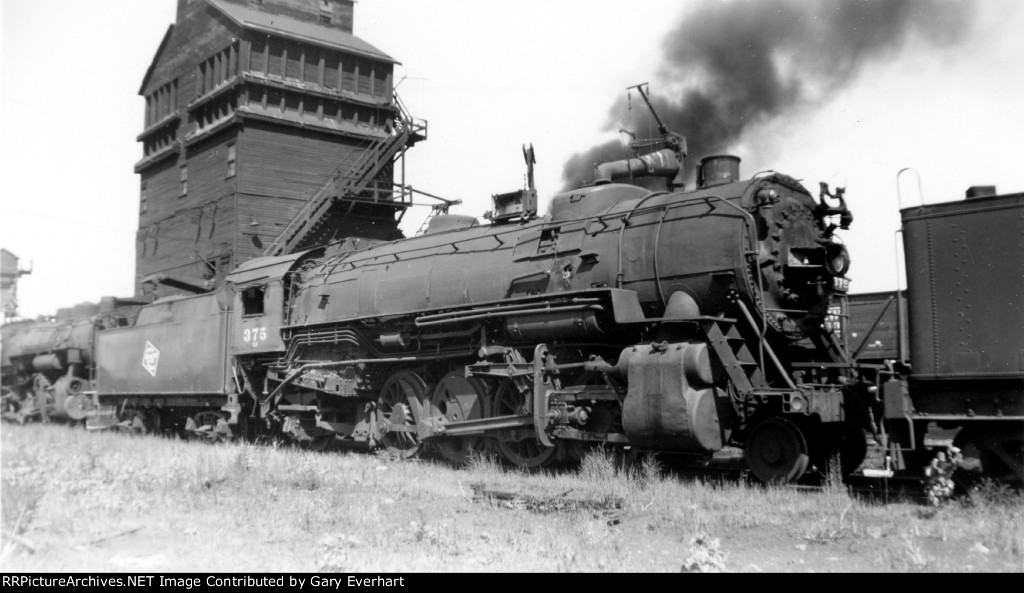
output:
M 669 82 L 652 85 L 652 103 L 666 126 L 686 137 L 691 157 L 722 153 L 752 125 L 826 100 L 912 34 L 933 46 L 957 43 L 971 16 L 964 0 L 705 2 L 666 38 L 658 78 Z M 632 114 L 631 131 L 656 135 L 642 99 L 633 93 L 627 100 L 611 108 L 604 130 L 621 128 L 623 114 Z M 572 156 L 562 169 L 564 187 L 590 181 L 596 163 L 629 151 L 611 140 Z

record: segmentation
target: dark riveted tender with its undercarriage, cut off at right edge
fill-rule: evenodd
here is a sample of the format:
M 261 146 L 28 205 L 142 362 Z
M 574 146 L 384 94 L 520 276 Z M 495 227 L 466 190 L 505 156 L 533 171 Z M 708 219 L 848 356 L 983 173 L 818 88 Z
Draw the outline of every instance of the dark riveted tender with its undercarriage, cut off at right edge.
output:
M 967 477 L 1024 483 L 1024 194 L 974 186 L 901 214 L 907 290 L 850 309 L 850 328 L 869 328 L 858 343 L 879 346 L 856 348 L 858 362 L 889 359 L 881 440 L 912 470 L 929 462 L 929 433 L 954 431 Z M 907 313 L 879 331 L 900 301 Z

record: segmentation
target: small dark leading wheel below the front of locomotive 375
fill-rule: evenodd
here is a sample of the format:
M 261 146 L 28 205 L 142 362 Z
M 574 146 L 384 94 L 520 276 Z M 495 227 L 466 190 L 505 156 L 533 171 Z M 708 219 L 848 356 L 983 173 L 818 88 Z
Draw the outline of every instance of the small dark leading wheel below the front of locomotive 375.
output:
M 788 483 L 807 471 L 807 440 L 796 424 L 769 418 L 746 438 L 744 457 L 754 476 L 765 483 Z

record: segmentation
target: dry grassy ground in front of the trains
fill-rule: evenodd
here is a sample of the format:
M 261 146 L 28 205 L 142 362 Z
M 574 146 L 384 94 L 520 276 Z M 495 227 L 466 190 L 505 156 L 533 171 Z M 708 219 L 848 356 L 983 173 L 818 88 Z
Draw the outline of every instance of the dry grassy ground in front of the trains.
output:
M 938 509 L 681 478 L 600 449 L 525 473 L 386 456 L 0 427 L 3 570 L 1024 570 L 1024 503 Z M 550 512 L 474 498 L 624 501 Z M 562 508 L 562 507 L 558 507 Z M 595 510 L 598 509 L 598 510 Z

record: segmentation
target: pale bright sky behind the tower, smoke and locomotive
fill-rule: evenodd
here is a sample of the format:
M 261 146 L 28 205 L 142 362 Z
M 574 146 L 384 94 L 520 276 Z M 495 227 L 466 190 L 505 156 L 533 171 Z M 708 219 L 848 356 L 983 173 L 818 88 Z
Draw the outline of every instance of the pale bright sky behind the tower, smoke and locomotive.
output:
M 429 122 L 406 181 L 462 200 L 454 213 L 480 216 L 492 195 L 523 186 L 523 144 L 536 150 L 543 210 L 573 155 L 641 121 L 635 93 L 623 107 L 627 87 L 649 82 L 666 100 L 699 84 L 685 61 L 667 67 L 666 39 L 726 4 L 361 0 L 355 34 L 401 62 L 397 91 Z M 911 32 L 819 85 L 813 100 L 752 120 L 726 146 L 744 175 L 774 169 L 815 194 L 822 180 L 846 186 L 854 292 L 896 287 L 900 204 L 961 200 L 971 185 L 1024 192 L 1024 3 L 966 6 L 955 41 Z M 176 0 L 0 0 L 0 247 L 32 266 L 18 285 L 23 316 L 133 293 L 137 93 L 175 8 Z M 758 18 L 742 25 L 756 29 Z M 801 79 L 800 59 L 786 67 Z M 707 153 L 689 147 L 692 167 Z M 913 171 L 898 188 L 904 168 Z M 407 215 L 407 235 L 426 214 Z

